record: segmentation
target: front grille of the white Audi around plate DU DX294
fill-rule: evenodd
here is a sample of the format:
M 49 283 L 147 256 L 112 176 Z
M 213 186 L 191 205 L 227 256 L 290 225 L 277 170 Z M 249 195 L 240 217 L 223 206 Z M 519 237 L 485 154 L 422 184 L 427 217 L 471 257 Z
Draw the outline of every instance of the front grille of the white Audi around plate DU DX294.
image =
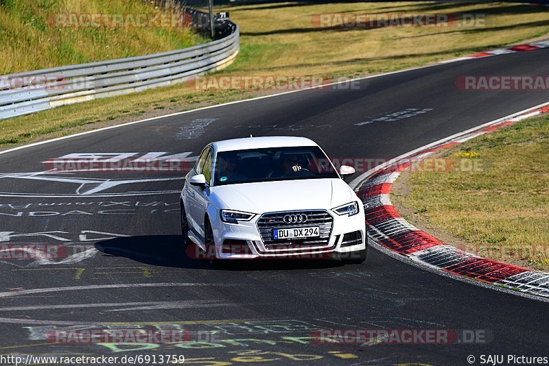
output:
M 285 223 L 285 215 L 307 215 L 305 223 Z M 334 218 L 325 210 L 303 210 L 303 211 L 285 211 L 274 212 L 262 215 L 257 221 L 257 229 L 261 234 L 261 240 L 268 250 L 288 250 L 301 249 L 304 247 L 325 247 L 328 245 L 331 227 Z M 306 228 L 309 226 L 318 226 L 319 234 L 317 238 L 312 239 L 294 239 L 275 241 L 272 239 L 272 229 L 285 228 Z

